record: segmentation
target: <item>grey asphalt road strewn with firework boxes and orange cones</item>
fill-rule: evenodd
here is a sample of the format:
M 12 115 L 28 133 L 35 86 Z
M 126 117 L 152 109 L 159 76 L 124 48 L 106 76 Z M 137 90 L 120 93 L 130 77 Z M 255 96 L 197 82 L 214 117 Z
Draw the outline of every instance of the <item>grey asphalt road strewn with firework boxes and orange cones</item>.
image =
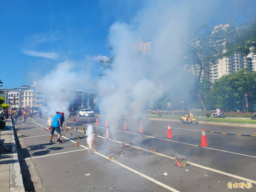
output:
M 31 177 L 36 191 L 228 191 L 228 182 L 242 181 L 252 182 L 247 190 L 256 191 L 256 137 L 206 133 L 209 147 L 198 147 L 203 128 L 254 135 L 255 128 L 170 122 L 174 138 L 166 139 L 168 122 L 145 120 L 142 126 L 146 133 L 139 134 L 139 123 L 128 119 L 127 131 L 123 130 L 123 120 L 110 125 L 110 139 L 114 140 L 105 141 L 105 119 L 100 118 L 100 125 L 93 126 L 94 134 L 99 136 L 93 148 L 99 150 L 89 153 L 82 128 L 95 125 L 95 117 L 80 117 L 80 123 L 66 118 L 66 124 L 78 131 L 68 129 L 66 137 L 62 137 L 64 143 L 56 142 L 57 138 L 47 143 L 49 131 L 38 127 L 48 127 L 46 120 L 28 118 L 21 125 L 20 118 L 16 125 L 20 165 L 22 169 L 28 167 L 23 179 L 26 182 Z M 76 140 L 77 136 L 80 140 Z M 82 146 L 76 146 L 77 141 Z M 127 144 L 125 148 L 120 147 L 122 142 Z M 110 145 L 113 149 L 108 148 Z M 156 152 L 151 152 L 151 147 Z M 142 148 L 144 153 L 139 154 Z M 126 155 L 121 157 L 123 151 Z M 108 159 L 110 153 L 115 155 L 114 160 Z M 176 167 L 174 156 L 186 156 L 187 167 Z M 164 172 L 168 175 L 163 176 Z

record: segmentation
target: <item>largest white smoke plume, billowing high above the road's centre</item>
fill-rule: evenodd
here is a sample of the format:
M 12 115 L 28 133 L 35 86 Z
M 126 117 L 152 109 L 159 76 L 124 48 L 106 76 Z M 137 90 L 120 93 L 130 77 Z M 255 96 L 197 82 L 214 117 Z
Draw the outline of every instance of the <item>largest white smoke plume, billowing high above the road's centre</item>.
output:
M 189 34 L 189 10 L 184 9 L 180 12 L 168 2 L 149 4 L 130 23 L 110 27 L 113 70 L 100 80 L 99 92 L 104 95 L 100 111 L 114 128 L 120 115 L 131 112 L 138 119 L 146 102 L 154 104 L 166 92 L 174 95 L 177 87 L 189 91 L 179 87 L 184 76 L 178 72 L 176 57 Z M 140 41 L 152 42 L 150 56 L 134 54 L 134 45 Z

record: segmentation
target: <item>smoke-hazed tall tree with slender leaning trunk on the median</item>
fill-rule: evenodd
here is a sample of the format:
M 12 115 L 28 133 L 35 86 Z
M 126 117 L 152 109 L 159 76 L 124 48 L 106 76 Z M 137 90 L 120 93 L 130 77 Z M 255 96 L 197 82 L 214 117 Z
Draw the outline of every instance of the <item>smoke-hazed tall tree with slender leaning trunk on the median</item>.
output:
M 202 77 L 203 67 L 209 64 L 215 64 L 223 57 L 224 42 L 226 41 L 226 31 L 223 28 L 217 28 L 212 32 L 212 28 L 207 23 L 202 23 L 195 31 L 195 35 L 185 47 L 183 53 L 183 64 L 198 69 L 195 80 L 193 95 L 197 95 L 205 114 L 208 116 L 204 104 L 204 96 L 199 89 L 199 82 Z

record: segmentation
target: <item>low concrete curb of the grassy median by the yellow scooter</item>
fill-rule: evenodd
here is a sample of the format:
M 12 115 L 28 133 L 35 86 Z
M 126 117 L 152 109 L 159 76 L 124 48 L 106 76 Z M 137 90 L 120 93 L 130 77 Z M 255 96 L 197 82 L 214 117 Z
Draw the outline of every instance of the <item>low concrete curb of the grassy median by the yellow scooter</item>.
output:
M 171 121 L 171 122 L 180 122 L 178 119 L 163 119 L 163 118 L 150 118 L 143 117 L 143 119 L 150 121 Z M 214 121 L 199 121 L 199 124 L 209 124 L 209 125 L 223 125 L 223 126 L 232 126 L 232 127 L 247 127 L 247 128 L 256 128 L 256 124 L 248 123 L 228 123 L 228 122 L 214 122 Z

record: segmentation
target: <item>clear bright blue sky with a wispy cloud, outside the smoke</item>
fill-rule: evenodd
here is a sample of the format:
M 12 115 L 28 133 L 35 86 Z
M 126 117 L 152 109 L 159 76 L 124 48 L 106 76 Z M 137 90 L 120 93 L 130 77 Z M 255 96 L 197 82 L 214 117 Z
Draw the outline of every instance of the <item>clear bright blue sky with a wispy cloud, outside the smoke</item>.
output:
M 216 1 L 209 12 L 212 27 L 255 14 L 256 1 Z M 57 63 L 72 60 L 101 73 L 108 56 L 106 37 L 116 21 L 129 22 L 148 1 L 12 1 L 0 0 L 0 79 L 7 88 L 20 87 L 44 76 Z M 173 4 L 178 4 L 173 1 Z M 209 17 L 207 17 L 209 18 Z M 202 19 L 204 16 L 202 15 Z

